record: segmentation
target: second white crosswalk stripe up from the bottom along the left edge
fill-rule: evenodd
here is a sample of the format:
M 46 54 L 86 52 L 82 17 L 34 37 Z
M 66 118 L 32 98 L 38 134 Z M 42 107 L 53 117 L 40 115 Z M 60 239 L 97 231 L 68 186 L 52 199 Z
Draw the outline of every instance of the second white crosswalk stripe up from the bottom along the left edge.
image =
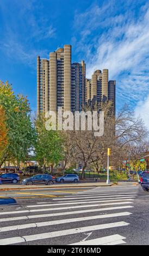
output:
M 26 228 L 44 227 L 49 225 L 66 224 L 66 223 L 79 222 L 79 221 L 97 220 L 100 218 L 113 218 L 113 217 L 128 216 L 128 215 L 131 215 L 131 212 L 117 212 L 116 214 L 104 214 L 104 215 L 96 215 L 96 216 L 89 216 L 89 217 L 69 218 L 69 219 L 56 220 L 56 221 L 45 221 L 45 222 L 13 225 L 13 226 L 0 228 L 0 232 L 26 229 Z

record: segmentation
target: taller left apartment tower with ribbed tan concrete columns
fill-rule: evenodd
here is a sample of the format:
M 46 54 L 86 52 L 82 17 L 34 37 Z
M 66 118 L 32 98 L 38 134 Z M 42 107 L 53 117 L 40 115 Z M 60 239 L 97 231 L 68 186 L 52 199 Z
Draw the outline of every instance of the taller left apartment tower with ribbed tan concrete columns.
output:
M 71 63 L 71 45 L 49 53 L 48 59 L 37 58 L 38 114 L 80 111 L 85 103 L 85 63 Z

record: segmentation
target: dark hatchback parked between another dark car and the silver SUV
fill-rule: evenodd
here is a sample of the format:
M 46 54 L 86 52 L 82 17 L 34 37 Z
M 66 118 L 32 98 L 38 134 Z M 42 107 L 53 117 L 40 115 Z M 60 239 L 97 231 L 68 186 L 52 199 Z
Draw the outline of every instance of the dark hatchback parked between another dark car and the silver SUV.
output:
M 30 178 L 23 179 L 23 185 L 36 185 L 36 184 L 45 184 L 52 185 L 55 182 L 55 178 L 49 174 L 37 174 Z

